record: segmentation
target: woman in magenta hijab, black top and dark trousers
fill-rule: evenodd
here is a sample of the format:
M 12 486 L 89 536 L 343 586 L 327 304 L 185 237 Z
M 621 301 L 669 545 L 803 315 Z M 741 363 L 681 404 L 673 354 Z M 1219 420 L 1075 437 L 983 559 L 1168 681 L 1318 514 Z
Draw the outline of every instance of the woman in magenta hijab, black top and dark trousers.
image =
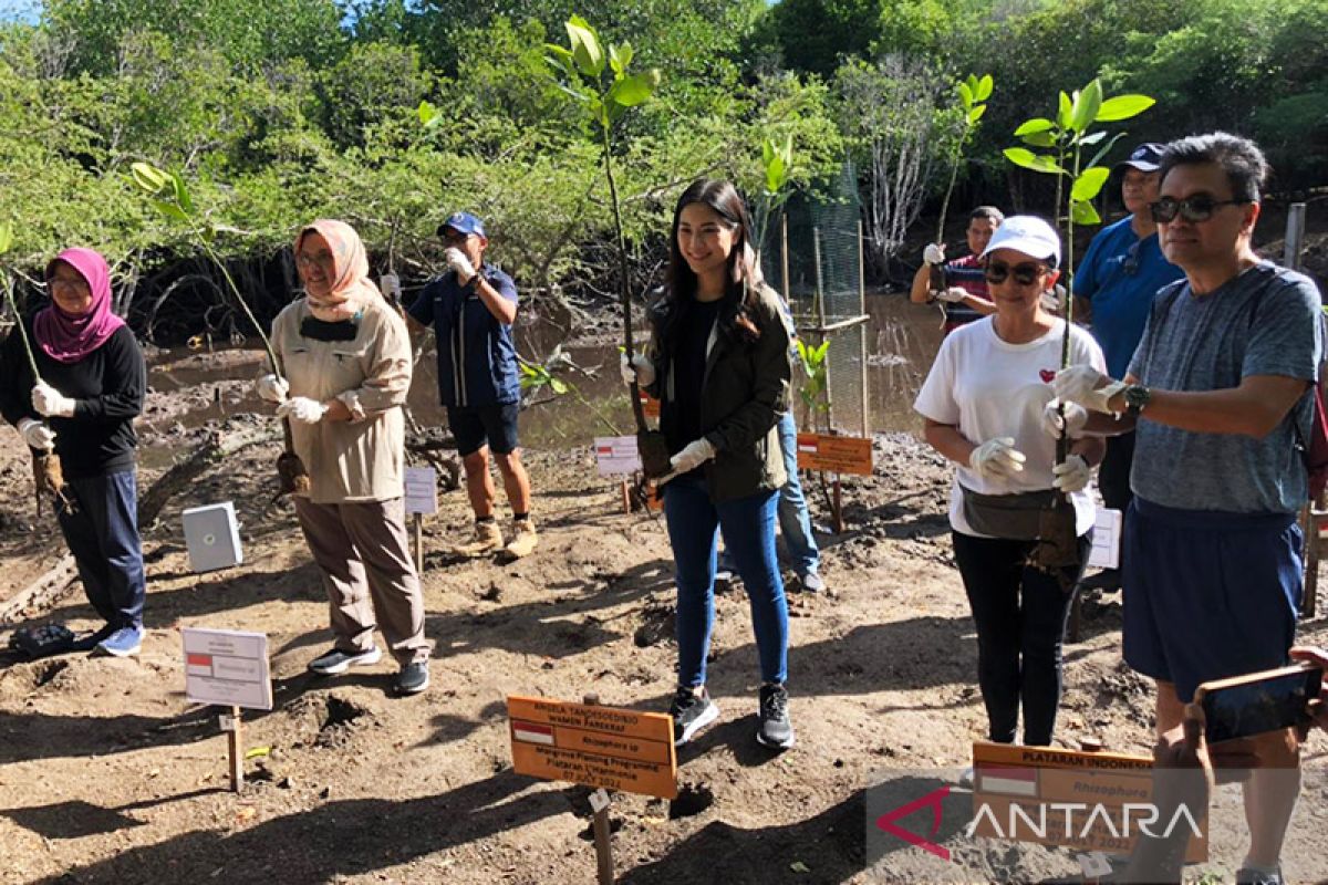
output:
M 74 644 L 125 657 L 143 640 L 142 543 L 138 537 L 138 437 L 147 386 L 143 352 L 110 309 L 110 268 L 92 249 L 65 249 L 46 265 L 50 304 L 29 321 L 40 378 L 11 334 L 0 350 L 0 411 L 33 450 L 54 450 L 64 468 L 56 503 L 88 601 L 105 621 Z

